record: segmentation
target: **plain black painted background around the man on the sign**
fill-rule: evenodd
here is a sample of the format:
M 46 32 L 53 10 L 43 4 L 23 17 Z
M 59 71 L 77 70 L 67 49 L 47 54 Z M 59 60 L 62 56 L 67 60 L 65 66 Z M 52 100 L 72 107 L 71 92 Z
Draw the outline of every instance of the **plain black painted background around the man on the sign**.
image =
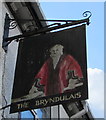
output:
M 49 48 L 62 44 L 64 53 L 71 54 L 81 66 L 85 84 L 85 97 L 88 97 L 86 27 L 81 25 L 67 30 L 41 34 L 21 40 L 19 43 L 12 99 L 27 95 L 45 60 L 49 57 Z

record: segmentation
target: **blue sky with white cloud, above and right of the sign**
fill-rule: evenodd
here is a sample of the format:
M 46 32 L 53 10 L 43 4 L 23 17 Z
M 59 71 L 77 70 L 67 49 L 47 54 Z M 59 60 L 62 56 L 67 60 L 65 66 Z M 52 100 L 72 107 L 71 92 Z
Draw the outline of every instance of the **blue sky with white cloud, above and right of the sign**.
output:
M 92 13 L 90 25 L 86 27 L 89 87 L 87 102 L 95 118 L 104 118 L 104 2 L 98 1 L 40 0 L 40 6 L 46 19 L 80 20 L 84 18 L 83 12 Z

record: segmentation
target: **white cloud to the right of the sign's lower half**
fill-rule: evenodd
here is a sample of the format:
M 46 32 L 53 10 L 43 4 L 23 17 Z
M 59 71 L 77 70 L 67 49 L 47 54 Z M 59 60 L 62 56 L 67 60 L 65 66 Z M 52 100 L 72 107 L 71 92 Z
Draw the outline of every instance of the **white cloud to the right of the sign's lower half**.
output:
M 89 99 L 91 109 L 104 111 L 104 72 L 97 68 L 88 68 Z

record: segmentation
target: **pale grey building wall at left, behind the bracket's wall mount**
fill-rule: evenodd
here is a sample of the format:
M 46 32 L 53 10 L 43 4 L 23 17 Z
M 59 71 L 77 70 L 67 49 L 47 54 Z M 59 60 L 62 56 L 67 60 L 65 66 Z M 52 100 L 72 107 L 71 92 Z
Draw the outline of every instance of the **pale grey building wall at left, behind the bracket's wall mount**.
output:
M 3 31 L 4 31 L 4 21 L 6 13 L 9 13 L 5 3 L 1 3 L 0 7 L 2 8 L 0 23 L 1 23 L 1 32 L 0 32 L 0 91 L 2 91 L 0 96 L 0 105 L 6 106 L 11 103 L 11 94 L 14 80 L 15 64 L 18 50 L 18 42 L 11 42 L 8 46 L 7 53 L 4 52 L 2 48 L 3 41 Z M 10 15 L 11 16 L 11 15 Z M 15 36 L 20 34 L 18 28 L 10 30 L 9 36 Z M 1 99 L 2 98 L 2 99 Z M 1 107 L 0 106 L 0 107 Z M 9 114 L 9 107 L 0 111 L 1 118 L 18 118 L 18 113 Z

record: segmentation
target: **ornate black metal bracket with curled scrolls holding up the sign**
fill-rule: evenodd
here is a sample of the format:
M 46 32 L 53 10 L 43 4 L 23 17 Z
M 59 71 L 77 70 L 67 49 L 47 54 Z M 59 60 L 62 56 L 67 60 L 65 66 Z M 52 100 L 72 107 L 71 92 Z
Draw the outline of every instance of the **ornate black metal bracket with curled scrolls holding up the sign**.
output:
M 42 29 L 38 29 L 36 31 L 27 32 L 27 33 L 24 33 L 21 35 L 13 36 L 13 37 L 5 37 L 3 41 L 5 43 L 8 42 L 8 44 L 10 44 L 11 41 L 13 41 L 13 40 L 19 41 L 21 38 L 50 32 L 50 31 L 57 30 L 60 28 L 65 28 L 65 27 L 74 26 L 74 25 L 83 24 L 83 23 L 86 23 L 87 25 L 89 25 L 90 24 L 89 18 L 92 16 L 92 13 L 90 11 L 85 11 L 82 15 L 83 15 L 83 17 L 85 17 L 85 19 L 81 19 L 81 20 L 40 20 L 42 22 L 48 21 L 48 22 L 54 22 L 54 23 L 51 25 L 45 26 Z M 8 20 L 10 22 L 9 29 L 16 28 L 17 23 L 16 23 L 15 19 L 10 19 L 8 17 Z M 33 19 L 18 19 L 18 21 L 20 21 L 20 22 L 27 21 L 28 22 L 28 21 L 33 21 Z M 65 24 L 64 24 L 64 22 L 65 22 Z M 6 44 L 6 46 L 8 46 L 8 44 Z

